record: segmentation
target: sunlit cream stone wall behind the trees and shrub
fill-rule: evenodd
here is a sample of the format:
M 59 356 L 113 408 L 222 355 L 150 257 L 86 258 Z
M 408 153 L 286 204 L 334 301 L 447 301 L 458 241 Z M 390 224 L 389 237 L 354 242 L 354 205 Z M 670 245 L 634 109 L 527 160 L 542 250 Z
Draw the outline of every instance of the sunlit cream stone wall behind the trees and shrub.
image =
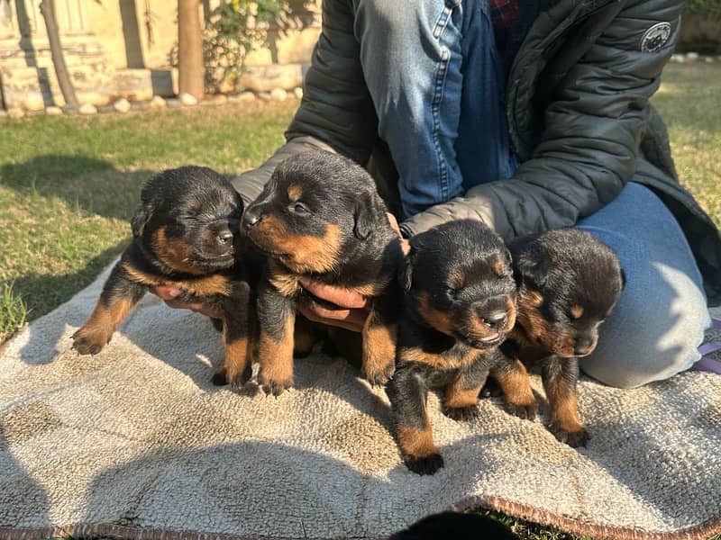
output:
M 209 10 L 223 0 L 203 0 Z M 27 111 L 65 103 L 59 92 L 40 0 L 0 0 L 0 108 Z M 151 30 L 145 9 L 151 9 Z M 169 65 L 176 46 L 177 2 L 169 0 L 56 0 L 60 39 L 80 103 L 115 98 L 149 100 L 178 92 Z M 319 32 L 316 20 L 302 31 L 269 32 L 269 47 L 252 53 L 244 90 L 292 90 L 301 85 Z

